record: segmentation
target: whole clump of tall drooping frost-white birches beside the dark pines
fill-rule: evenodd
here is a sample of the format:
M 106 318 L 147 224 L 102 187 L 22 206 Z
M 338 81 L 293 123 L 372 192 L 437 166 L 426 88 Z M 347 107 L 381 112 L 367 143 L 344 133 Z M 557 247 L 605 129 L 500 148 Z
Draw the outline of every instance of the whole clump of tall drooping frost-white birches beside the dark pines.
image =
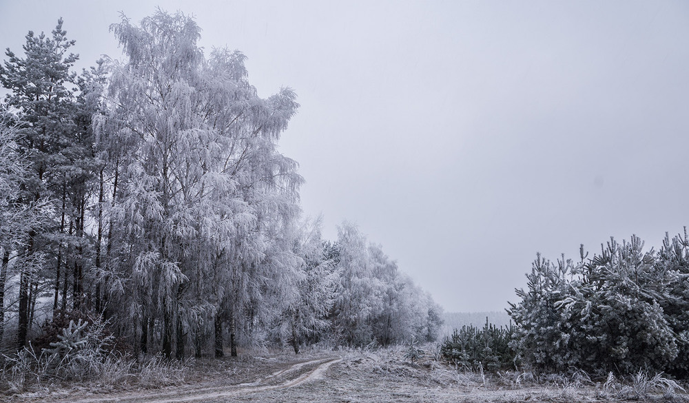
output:
M 114 65 L 96 125 L 102 141 L 125 145 L 110 161 L 110 288 L 128 307 L 132 340 L 148 342 L 149 323 L 161 321 L 163 353 L 175 345 L 181 357 L 209 315 L 216 328 L 227 320 L 234 340 L 240 313 L 260 307 L 266 278 L 280 273 L 265 264 L 267 223 L 298 211 L 296 163 L 276 150 L 298 105 L 289 89 L 260 99 L 239 52 L 205 59 L 200 29 L 181 13 L 112 29 L 127 61 Z

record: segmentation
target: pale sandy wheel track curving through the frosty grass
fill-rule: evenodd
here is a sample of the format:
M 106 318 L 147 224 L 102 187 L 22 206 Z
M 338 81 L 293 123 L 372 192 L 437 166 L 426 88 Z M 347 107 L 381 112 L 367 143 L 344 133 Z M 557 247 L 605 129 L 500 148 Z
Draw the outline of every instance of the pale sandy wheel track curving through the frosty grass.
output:
M 277 371 L 256 382 L 238 384 L 233 386 L 216 386 L 209 388 L 187 389 L 181 387 L 174 391 L 145 391 L 141 393 L 114 393 L 103 397 L 90 397 L 78 400 L 63 400 L 69 403 L 176 403 L 176 402 L 202 402 L 218 400 L 225 397 L 236 397 L 271 389 L 286 389 L 298 386 L 305 382 L 318 380 L 329 366 L 342 361 L 341 358 L 324 358 L 300 362 L 286 369 Z M 310 368 L 313 366 L 313 368 Z M 304 370 L 307 368 L 306 370 Z

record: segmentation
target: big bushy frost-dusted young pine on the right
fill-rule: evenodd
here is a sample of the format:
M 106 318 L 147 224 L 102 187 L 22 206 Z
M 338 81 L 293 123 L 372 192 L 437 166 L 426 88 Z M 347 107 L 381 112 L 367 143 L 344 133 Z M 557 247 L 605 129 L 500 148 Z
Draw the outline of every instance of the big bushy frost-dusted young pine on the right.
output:
M 522 300 L 510 310 L 513 347 L 524 362 L 598 374 L 672 368 L 681 342 L 672 325 L 681 319 L 670 307 L 680 301 L 683 280 L 643 247 L 637 236 L 621 244 L 611 238 L 601 254 L 585 261 L 582 246 L 579 264 L 563 258 L 557 267 L 539 256 L 528 291 L 517 290 Z M 664 259 L 671 256 L 667 247 Z

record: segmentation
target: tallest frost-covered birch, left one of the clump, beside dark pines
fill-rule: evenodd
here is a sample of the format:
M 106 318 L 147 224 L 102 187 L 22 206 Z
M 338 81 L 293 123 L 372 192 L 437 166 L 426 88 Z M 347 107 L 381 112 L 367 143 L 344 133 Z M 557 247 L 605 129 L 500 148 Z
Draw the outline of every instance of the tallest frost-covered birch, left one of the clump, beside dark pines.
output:
M 114 66 L 110 109 L 96 126 L 101 139 L 126 145 L 116 154 L 123 161 L 114 161 L 119 189 L 110 214 L 119 242 L 110 257 L 111 278 L 120 287 L 119 302 L 132 324 L 127 334 L 136 348 L 147 349 L 150 319 L 160 319 L 162 350 L 169 357 L 175 343 L 183 351 L 183 265 L 194 236 L 189 196 L 196 178 L 188 137 L 203 63 L 196 46 L 200 30 L 191 20 L 162 12 L 143 19 L 141 27 L 123 18 L 112 30 L 128 59 Z

